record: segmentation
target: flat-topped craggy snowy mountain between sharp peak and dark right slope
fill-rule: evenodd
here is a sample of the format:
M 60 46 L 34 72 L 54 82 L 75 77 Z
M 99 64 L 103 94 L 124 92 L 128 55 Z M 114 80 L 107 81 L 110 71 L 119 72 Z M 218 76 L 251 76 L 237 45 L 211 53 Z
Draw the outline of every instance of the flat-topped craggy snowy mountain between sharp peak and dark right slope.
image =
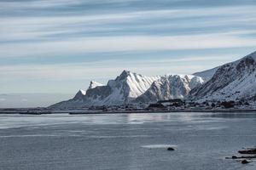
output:
M 201 77 L 191 75 L 168 75 L 152 83 L 150 88 L 139 96 L 137 102 L 155 102 L 162 99 L 183 99 L 192 88 L 201 85 Z

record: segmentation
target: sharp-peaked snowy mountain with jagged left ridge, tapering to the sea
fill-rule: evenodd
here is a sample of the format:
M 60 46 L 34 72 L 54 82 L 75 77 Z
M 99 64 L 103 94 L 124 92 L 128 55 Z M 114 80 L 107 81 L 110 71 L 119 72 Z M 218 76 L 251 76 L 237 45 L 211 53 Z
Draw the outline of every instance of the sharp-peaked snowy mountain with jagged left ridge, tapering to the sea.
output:
M 73 99 L 52 105 L 55 108 L 81 107 L 84 105 L 120 105 L 142 95 L 160 77 L 145 77 L 131 71 L 123 71 L 119 77 L 108 81 L 106 86 L 98 85 L 81 91 Z

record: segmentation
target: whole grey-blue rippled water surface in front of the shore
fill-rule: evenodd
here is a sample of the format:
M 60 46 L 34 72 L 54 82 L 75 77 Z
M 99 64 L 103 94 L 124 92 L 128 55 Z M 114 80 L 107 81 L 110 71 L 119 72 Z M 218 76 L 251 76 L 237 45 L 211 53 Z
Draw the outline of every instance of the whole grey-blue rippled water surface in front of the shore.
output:
M 0 115 L 0 169 L 256 169 L 253 113 Z M 168 151 L 168 146 L 175 151 Z

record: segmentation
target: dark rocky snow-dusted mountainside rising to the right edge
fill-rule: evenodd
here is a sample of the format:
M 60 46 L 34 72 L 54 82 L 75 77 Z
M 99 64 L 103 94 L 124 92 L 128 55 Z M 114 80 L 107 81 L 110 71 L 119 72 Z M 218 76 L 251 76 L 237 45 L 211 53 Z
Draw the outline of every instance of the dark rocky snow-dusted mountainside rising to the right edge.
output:
M 213 77 L 194 88 L 190 99 L 236 100 L 256 96 L 256 52 L 222 65 Z

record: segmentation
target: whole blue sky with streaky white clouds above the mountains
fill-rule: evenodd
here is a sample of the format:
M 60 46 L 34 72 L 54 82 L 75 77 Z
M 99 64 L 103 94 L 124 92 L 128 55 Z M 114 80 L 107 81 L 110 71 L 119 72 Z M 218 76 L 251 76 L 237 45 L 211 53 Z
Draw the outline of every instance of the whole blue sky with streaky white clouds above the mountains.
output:
M 193 74 L 240 59 L 256 50 L 255 8 L 255 0 L 1 0 L 0 107 L 8 94 L 22 94 L 25 106 L 26 94 L 68 99 L 123 70 Z

